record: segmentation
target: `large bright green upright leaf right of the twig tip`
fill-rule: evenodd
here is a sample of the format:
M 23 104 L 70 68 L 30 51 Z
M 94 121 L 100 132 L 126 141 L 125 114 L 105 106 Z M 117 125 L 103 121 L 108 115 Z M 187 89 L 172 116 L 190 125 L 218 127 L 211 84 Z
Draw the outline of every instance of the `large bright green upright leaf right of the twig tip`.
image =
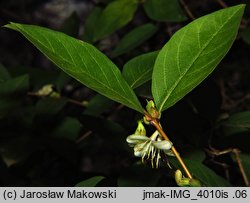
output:
M 220 63 L 237 35 L 245 5 L 203 16 L 177 31 L 157 56 L 152 93 L 163 111 L 194 89 Z

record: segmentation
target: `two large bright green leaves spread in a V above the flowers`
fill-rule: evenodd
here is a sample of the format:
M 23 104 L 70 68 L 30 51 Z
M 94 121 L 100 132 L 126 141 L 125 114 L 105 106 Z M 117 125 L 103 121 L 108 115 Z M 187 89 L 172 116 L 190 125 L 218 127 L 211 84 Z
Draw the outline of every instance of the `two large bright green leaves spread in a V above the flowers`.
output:
M 152 94 L 160 112 L 183 98 L 219 64 L 237 35 L 244 7 L 222 9 L 193 21 L 177 31 L 160 50 L 154 67 L 150 66 L 153 67 Z M 38 26 L 11 23 L 5 27 L 21 32 L 57 66 L 89 88 L 143 113 L 119 69 L 92 45 Z M 145 72 L 145 67 L 141 67 L 130 73 L 137 76 L 132 83 L 129 81 L 132 87 L 148 81 L 150 71 L 138 79 L 138 73 Z

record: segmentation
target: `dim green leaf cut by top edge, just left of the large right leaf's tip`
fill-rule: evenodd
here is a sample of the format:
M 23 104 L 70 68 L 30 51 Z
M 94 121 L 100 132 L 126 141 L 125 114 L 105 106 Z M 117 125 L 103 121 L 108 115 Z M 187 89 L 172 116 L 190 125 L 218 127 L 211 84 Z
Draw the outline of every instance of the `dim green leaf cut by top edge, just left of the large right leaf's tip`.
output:
M 178 0 L 146 0 L 144 10 L 156 21 L 181 22 L 187 20 Z

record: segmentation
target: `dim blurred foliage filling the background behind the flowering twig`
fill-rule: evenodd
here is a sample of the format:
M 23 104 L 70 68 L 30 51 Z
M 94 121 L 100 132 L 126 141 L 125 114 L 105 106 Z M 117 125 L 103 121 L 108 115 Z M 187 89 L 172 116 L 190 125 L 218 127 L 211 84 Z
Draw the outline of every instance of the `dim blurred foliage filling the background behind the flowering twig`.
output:
M 221 9 L 210 0 L 183 1 L 186 5 L 173 1 L 168 12 L 163 12 L 164 3 L 150 0 L 134 0 L 128 7 L 127 0 L 83 1 L 81 6 L 76 2 L 71 1 L 70 10 L 62 1 L 68 14 L 62 18 L 61 11 L 51 9 L 52 15 L 46 10 L 53 1 L 0 1 L 0 25 L 9 21 L 47 25 L 94 43 L 122 67 L 130 59 L 159 50 L 191 22 L 186 8 L 195 17 Z M 162 125 L 205 185 L 244 186 L 234 154 L 217 152 L 242 151 L 249 178 L 250 2 L 226 3 L 247 4 L 237 40 L 217 71 L 166 111 Z M 138 29 L 148 23 L 158 30 L 143 36 L 145 31 Z M 133 46 L 126 42 L 128 48 L 123 45 L 115 55 L 115 48 L 131 33 L 140 40 Z M 127 146 L 126 136 L 133 133 L 138 114 L 60 72 L 16 33 L 1 29 L 0 40 L 1 186 L 176 186 L 173 170 L 164 163 L 160 169 L 138 163 Z M 34 94 L 48 84 L 59 97 Z M 136 89 L 142 103 L 151 97 L 150 88 L 146 83 Z M 176 163 L 169 161 L 174 169 Z

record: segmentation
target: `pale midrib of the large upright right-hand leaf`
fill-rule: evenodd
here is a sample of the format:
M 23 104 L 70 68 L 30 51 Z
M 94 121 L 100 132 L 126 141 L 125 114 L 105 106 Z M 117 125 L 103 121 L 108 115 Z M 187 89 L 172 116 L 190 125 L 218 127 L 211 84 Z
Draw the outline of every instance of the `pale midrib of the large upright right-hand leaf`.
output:
M 180 76 L 180 78 L 175 82 L 175 84 L 172 86 L 172 88 L 170 89 L 169 93 L 166 95 L 166 97 L 164 98 L 163 102 L 161 103 L 160 107 L 159 107 L 159 111 L 161 112 L 163 109 L 164 104 L 166 103 L 166 101 L 168 100 L 169 96 L 171 95 L 171 93 L 176 89 L 176 87 L 178 86 L 179 82 L 182 80 L 182 78 L 187 74 L 187 72 L 189 71 L 189 69 L 191 68 L 191 66 L 197 61 L 198 57 L 200 56 L 200 54 L 204 51 L 204 49 L 208 46 L 208 44 L 214 39 L 214 37 L 219 33 L 219 31 L 225 26 L 225 24 L 228 23 L 229 20 L 231 20 L 231 18 L 239 11 L 239 9 L 237 11 L 235 11 L 232 16 L 230 18 L 228 18 L 227 21 L 225 21 L 223 23 L 223 25 L 220 27 L 220 29 L 215 32 L 213 34 L 213 36 L 208 40 L 208 42 L 204 45 L 204 47 L 198 52 L 198 54 L 196 55 L 196 57 L 194 58 L 193 62 L 190 63 L 190 66 L 187 68 L 186 71 L 183 72 L 183 74 Z M 165 57 L 164 57 L 165 58 Z

